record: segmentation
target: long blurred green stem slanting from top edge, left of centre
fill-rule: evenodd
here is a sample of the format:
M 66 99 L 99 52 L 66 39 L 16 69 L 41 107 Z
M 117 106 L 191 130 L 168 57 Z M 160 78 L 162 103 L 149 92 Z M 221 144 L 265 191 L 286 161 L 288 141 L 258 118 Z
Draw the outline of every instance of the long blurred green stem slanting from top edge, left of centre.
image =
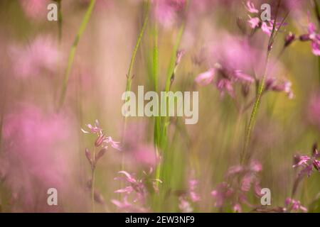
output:
M 73 45 L 72 45 L 71 50 L 69 52 L 68 65 L 65 70 L 65 77 L 63 79 L 63 87 L 62 87 L 61 94 L 60 94 L 58 109 L 60 109 L 60 107 L 63 105 L 63 102 L 65 100 L 65 93 L 67 92 L 70 72 L 71 72 L 71 68 L 73 66 L 73 60 L 75 58 L 75 50 L 77 50 L 79 40 L 82 36 L 82 33 L 85 31 L 85 28 L 86 28 L 87 23 L 90 19 L 90 16 L 91 16 L 91 13 L 92 13 L 94 6 L 95 6 L 95 0 L 91 0 L 89 6 L 87 8 L 87 11 L 85 12 L 85 16 L 82 19 L 82 23 L 80 25 L 78 33 L 77 33 L 77 35 L 75 35 L 75 40 L 73 40 Z

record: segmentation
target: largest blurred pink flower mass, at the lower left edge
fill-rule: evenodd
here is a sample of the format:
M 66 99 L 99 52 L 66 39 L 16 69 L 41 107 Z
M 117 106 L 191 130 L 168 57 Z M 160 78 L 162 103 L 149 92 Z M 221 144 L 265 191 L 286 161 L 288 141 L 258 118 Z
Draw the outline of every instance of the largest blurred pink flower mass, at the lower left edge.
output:
M 71 122 L 64 114 L 45 112 L 33 105 L 18 106 L 4 119 L 4 156 L 0 160 L 8 164 L 4 184 L 17 195 L 13 204 L 16 211 L 60 209 L 46 204 L 46 192 L 53 187 L 62 196 L 73 184 Z

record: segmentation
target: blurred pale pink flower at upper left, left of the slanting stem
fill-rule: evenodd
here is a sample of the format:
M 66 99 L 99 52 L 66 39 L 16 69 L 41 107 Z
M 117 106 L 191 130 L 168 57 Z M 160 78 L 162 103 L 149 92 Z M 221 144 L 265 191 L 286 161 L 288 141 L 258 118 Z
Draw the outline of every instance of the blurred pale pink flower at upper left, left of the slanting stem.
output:
M 11 46 L 9 54 L 14 62 L 14 74 L 22 78 L 55 72 L 60 56 L 58 46 L 49 36 L 39 36 L 23 48 Z

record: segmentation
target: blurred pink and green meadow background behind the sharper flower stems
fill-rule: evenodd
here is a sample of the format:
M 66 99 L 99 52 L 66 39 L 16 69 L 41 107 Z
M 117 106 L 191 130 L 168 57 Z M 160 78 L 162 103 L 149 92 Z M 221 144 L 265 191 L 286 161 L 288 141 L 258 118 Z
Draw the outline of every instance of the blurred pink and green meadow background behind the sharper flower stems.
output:
M 272 198 L 262 210 L 304 211 L 289 207 L 291 198 L 319 212 L 316 166 L 292 193 L 303 168 L 292 167 L 294 155 L 311 157 L 320 142 L 317 2 L 250 3 L 0 1 L 0 211 L 249 212 L 262 209 L 261 194 L 254 192 L 259 186 L 269 188 Z M 242 166 L 245 127 L 270 40 L 254 10 L 263 3 L 270 4 L 273 20 L 285 23 L 272 45 L 247 149 L 250 162 Z M 60 6 L 58 21 L 48 21 L 48 4 Z M 272 25 L 266 26 L 271 32 Z M 177 52 L 183 53 L 179 60 Z M 235 77 L 236 70 L 250 79 Z M 145 92 L 164 91 L 168 81 L 171 91 L 198 91 L 198 123 L 124 118 L 128 78 L 136 94 L 139 85 Z M 92 155 L 101 135 L 80 129 L 90 131 L 86 125 L 96 119 L 122 149 L 109 143 L 93 168 L 92 208 L 92 164 L 85 148 Z M 249 188 L 243 188 L 245 179 Z M 49 188 L 58 190 L 58 206 L 48 206 Z

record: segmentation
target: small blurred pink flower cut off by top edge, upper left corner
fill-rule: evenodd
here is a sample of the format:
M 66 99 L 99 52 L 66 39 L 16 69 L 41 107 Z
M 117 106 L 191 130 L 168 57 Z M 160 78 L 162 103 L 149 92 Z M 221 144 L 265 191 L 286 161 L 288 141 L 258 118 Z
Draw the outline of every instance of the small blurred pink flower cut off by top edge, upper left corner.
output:
M 20 0 L 22 9 L 26 16 L 41 20 L 48 12 L 47 6 L 50 4 L 48 0 Z

